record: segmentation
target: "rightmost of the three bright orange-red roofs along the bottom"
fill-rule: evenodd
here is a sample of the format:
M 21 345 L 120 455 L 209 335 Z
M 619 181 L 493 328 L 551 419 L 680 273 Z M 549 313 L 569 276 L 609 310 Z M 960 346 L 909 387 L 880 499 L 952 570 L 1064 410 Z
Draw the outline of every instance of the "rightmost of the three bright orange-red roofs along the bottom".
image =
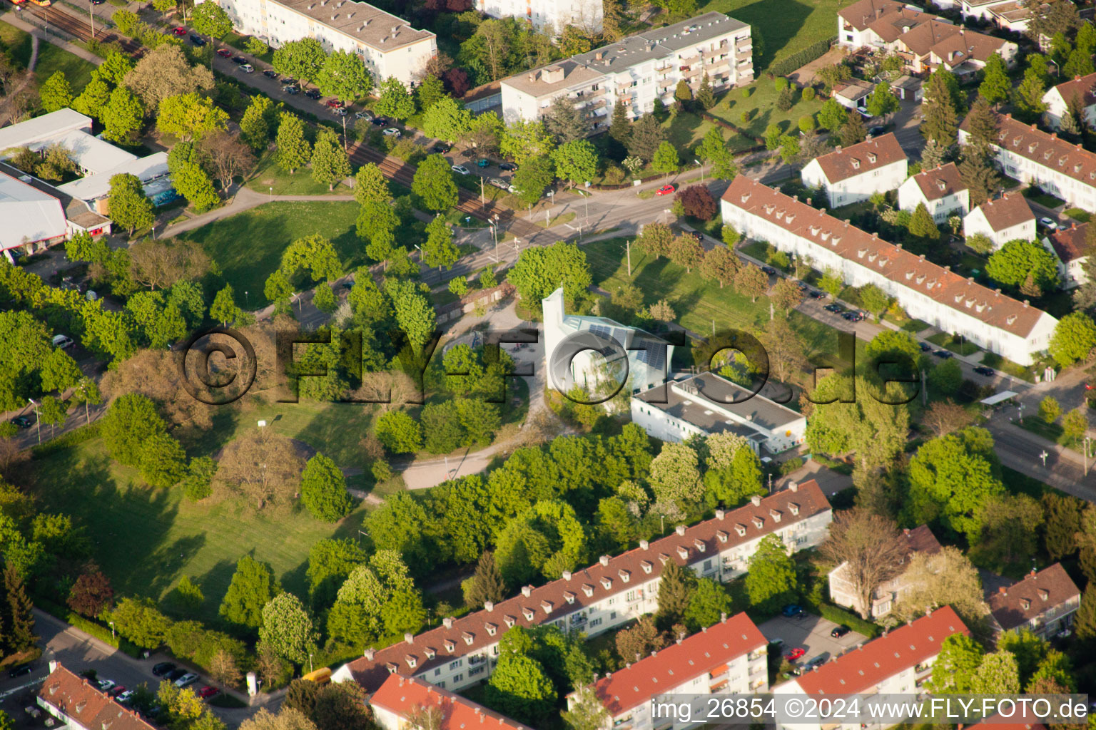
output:
M 809 695 L 871 692 L 883 680 L 940 652 L 940 642 L 970 630 L 951 606 L 937 609 L 794 680 Z

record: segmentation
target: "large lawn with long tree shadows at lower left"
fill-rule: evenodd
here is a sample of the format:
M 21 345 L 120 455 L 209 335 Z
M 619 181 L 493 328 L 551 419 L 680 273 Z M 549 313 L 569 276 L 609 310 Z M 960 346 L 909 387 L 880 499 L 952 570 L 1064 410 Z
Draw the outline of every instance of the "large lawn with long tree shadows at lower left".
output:
M 96 561 L 117 593 L 146 595 L 171 610 L 164 598 L 189 576 L 205 594 L 193 617 L 206 622 L 217 621 L 243 555 L 269 563 L 283 587 L 307 595 L 308 551 L 326 537 L 356 538 L 365 513 L 358 507 L 329 524 L 305 510 L 255 512 L 239 499 L 191 502 L 179 488 L 142 486 L 136 470 L 114 463 L 100 439 L 43 460 L 36 476 L 43 509 L 66 512 L 88 530 Z

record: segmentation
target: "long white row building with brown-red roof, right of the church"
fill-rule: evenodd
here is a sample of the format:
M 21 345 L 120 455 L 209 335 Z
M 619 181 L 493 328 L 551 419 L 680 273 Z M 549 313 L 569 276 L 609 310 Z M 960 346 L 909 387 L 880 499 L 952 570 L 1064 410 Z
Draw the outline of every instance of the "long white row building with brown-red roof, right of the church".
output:
M 727 188 L 721 209 L 723 222 L 743 235 L 807 256 L 819 269 L 833 268 L 850 286 L 874 283 L 910 316 L 1014 362 L 1031 363 L 1035 352 L 1047 349 L 1058 323 L 1027 301 L 987 289 L 745 175 Z

